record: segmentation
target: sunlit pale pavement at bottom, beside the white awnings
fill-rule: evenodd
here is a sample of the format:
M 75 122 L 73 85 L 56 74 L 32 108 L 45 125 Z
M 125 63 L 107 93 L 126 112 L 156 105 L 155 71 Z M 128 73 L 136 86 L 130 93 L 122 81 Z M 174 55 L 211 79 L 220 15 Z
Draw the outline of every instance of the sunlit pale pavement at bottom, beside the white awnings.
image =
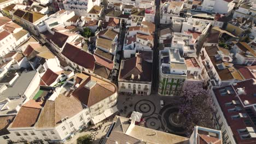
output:
M 108 129 L 109 129 L 110 125 L 112 124 L 112 121 L 113 121 L 113 118 L 109 119 L 109 121 L 106 121 L 106 120 L 103 121 L 104 124 L 102 124 L 102 122 L 97 124 L 97 125 L 102 124 L 102 128 L 99 130 L 92 130 L 92 129 L 96 128 L 96 126 L 86 128 L 85 131 L 83 131 L 82 133 L 77 133 L 72 139 L 68 140 L 66 143 L 76 144 L 78 137 L 87 134 L 87 135 L 92 136 L 92 140 L 94 140 L 92 142 L 93 144 L 103 144 L 102 141 L 104 139 L 104 136 L 107 134 Z

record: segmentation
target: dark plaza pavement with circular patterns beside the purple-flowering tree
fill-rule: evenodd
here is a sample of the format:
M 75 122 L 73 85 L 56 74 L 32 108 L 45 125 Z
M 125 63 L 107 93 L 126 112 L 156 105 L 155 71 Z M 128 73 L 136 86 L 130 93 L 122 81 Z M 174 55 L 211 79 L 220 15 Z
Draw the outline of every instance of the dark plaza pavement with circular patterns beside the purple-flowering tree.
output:
M 164 100 L 165 106 L 160 107 L 160 100 Z M 173 116 L 177 114 L 177 101 L 171 97 L 160 97 L 152 95 L 126 95 L 120 94 L 118 97 L 118 109 L 120 116 L 129 118 L 132 111 L 143 113 L 143 120 L 140 125 L 144 127 L 166 131 L 168 133 L 186 136 L 182 123 L 173 121 Z

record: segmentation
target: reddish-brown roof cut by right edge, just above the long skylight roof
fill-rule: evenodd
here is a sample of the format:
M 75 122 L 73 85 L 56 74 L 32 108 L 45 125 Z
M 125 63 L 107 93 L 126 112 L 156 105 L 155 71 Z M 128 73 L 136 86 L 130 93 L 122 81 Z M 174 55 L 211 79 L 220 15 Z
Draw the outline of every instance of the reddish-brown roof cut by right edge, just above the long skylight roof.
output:
M 249 67 L 246 65 L 235 65 L 235 68 L 246 80 L 256 79 L 256 74 L 252 72 L 252 70 L 256 70 L 256 65 L 249 66 Z

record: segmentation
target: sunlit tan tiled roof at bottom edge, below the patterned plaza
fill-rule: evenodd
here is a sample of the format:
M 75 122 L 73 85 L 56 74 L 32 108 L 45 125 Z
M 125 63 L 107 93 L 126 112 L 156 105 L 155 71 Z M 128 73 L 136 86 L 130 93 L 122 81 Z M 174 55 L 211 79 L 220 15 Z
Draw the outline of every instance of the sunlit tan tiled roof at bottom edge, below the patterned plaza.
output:
M 189 139 L 187 137 L 168 134 L 162 131 L 141 127 L 139 125 L 130 125 L 129 118 L 115 116 L 113 122 L 115 122 L 115 125 L 106 142 L 108 144 L 109 143 L 114 144 L 116 142 L 121 144 L 125 144 L 125 143 L 187 144 L 189 143 Z M 127 133 L 127 129 L 130 129 L 129 133 Z

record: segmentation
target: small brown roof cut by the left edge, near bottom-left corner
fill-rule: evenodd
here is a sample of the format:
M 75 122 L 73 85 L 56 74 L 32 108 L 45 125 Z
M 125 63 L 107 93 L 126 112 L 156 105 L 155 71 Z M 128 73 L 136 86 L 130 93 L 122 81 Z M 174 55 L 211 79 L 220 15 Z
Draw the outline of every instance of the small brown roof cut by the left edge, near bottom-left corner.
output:
M 9 127 L 10 122 L 13 122 L 15 116 L 0 116 L 0 135 L 7 135 L 10 134 L 7 128 Z

